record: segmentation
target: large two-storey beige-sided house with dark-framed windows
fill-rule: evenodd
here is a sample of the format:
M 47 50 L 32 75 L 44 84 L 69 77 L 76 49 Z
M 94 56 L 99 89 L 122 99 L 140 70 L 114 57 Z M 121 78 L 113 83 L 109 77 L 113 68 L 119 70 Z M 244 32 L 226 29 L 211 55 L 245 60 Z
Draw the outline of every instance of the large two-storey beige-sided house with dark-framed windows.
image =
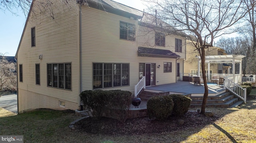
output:
M 154 86 L 174 83 L 183 72 L 184 33 L 150 31 L 157 25 L 148 24 L 144 12 L 112 0 L 71 0 L 63 7 L 52 0 L 49 16 L 38 2 L 32 2 L 16 53 L 19 113 L 78 110 L 84 90 L 134 94 L 143 76 Z

